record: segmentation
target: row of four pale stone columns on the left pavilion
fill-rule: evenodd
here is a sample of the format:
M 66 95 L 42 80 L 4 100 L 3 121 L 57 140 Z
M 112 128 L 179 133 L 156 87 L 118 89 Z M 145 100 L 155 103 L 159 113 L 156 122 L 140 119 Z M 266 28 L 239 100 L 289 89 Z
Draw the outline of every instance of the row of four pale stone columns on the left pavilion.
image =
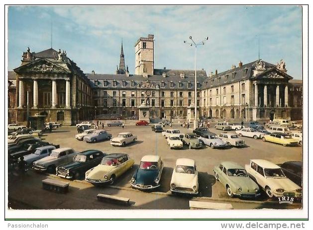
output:
M 70 80 L 66 80 L 65 87 L 65 106 L 66 108 L 71 107 L 71 83 Z M 27 104 L 28 101 L 28 92 L 27 92 Z M 18 94 L 18 108 L 22 108 L 24 105 L 24 82 L 23 80 L 19 80 L 19 94 Z M 57 83 L 56 80 L 52 80 L 52 108 L 56 108 L 57 105 Z M 33 80 L 33 108 L 38 107 L 38 82 L 37 80 Z

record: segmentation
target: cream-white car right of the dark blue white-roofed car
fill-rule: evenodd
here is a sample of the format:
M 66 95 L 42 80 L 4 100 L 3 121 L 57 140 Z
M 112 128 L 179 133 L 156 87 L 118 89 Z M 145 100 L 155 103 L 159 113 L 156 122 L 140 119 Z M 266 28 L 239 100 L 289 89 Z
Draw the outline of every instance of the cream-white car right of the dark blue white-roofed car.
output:
M 172 193 L 198 194 L 199 182 L 195 160 L 178 158 L 171 179 Z

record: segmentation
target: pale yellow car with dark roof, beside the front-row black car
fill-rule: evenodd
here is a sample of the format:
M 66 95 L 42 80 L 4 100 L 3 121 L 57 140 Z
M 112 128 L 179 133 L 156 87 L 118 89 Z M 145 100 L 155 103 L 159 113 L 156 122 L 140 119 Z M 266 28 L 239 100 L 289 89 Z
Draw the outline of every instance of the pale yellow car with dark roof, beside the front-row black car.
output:
M 104 156 L 101 163 L 85 173 L 85 180 L 93 185 L 113 184 L 134 165 L 134 160 L 124 153 L 112 153 Z

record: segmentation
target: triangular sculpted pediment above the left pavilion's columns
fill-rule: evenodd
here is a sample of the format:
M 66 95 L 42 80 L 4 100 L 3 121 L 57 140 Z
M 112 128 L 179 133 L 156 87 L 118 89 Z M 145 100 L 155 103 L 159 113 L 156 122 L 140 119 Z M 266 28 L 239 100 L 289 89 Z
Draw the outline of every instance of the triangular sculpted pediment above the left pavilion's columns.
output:
M 20 66 L 14 69 L 16 73 L 18 72 L 57 72 L 57 73 L 69 73 L 70 71 L 54 62 L 47 59 L 39 59 L 34 62 L 30 62 L 26 65 Z

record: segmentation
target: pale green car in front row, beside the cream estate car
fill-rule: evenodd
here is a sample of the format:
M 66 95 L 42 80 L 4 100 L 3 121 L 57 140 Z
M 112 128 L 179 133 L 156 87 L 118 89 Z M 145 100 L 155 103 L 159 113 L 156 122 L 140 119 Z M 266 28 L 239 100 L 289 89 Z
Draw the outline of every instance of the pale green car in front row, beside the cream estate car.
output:
M 261 195 L 259 186 L 248 176 L 241 165 L 224 161 L 213 169 L 216 181 L 226 189 L 229 197 L 256 198 Z

